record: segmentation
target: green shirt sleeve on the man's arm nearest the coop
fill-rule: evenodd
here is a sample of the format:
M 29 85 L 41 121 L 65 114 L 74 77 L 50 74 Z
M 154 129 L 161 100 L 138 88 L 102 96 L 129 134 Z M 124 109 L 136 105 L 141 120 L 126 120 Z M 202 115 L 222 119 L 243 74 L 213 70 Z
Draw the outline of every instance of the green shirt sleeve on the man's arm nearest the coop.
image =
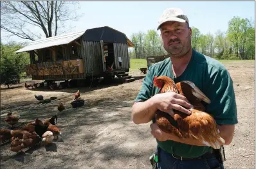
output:
M 149 67 L 147 70 L 147 74 L 143 79 L 142 88 L 138 93 L 135 102 L 147 101 L 147 99 L 151 98 L 153 90 L 153 75 L 152 75 L 152 67 Z

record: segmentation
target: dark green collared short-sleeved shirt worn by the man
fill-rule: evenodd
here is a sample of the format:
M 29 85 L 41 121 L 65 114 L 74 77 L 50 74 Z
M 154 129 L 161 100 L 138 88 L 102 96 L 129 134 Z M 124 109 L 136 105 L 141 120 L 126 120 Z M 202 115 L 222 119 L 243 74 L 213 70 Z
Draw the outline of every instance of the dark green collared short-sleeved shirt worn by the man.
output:
M 153 86 L 154 76 L 169 76 L 175 83 L 192 81 L 210 99 L 206 112 L 213 115 L 217 124 L 237 124 L 237 108 L 233 82 L 228 70 L 219 61 L 193 50 L 187 68 L 179 77 L 174 77 L 170 58 L 149 67 L 143 85 L 135 101 L 146 101 L 160 91 Z M 155 122 L 153 119 L 152 122 Z M 158 141 L 161 149 L 182 157 L 198 157 L 211 147 L 187 145 L 172 140 Z

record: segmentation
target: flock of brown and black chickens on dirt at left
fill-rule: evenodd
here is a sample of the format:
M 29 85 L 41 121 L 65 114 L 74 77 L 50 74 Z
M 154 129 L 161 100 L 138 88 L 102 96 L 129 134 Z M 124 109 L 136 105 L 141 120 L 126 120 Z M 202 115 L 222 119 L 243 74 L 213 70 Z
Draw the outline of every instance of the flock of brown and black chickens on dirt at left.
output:
M 75 99 L 80 97 L 79 90 L 75 93 Z M 44 100 L 42 95 L 35 95 L 35 98 L 41 102 Z M 59 104 L 59 111 L 65 109 L 62 103 Z M 13 115 L 11 112 L 6 115 L 5 121 L 14 127 L 19 121 L 18 115 Z M 35 121 L 30 122 L 20 129 L 0 129 L 0 141 L 5 143 L 6 141 L 11 141 L 10 150 L 13 152 L 21 152 L 24 148 L 30 148 L 34 145 L 39 145 L 39 143 L 44 143 L 48 145 L 55 138 L 59 138 L 61 134 L 60 129 L 57 127 L 57 115 L 50 117 L 44 122 L 36 118 Z

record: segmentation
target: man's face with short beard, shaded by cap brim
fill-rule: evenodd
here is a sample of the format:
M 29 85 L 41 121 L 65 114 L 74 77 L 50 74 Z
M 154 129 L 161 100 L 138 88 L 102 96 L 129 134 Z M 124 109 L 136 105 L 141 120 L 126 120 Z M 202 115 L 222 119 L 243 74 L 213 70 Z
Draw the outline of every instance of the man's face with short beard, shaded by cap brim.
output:
M 165 22 L 160 28 L 163 47 L 172 57 L 183 57 L 191 48 L 191 28 L 187 22 Z

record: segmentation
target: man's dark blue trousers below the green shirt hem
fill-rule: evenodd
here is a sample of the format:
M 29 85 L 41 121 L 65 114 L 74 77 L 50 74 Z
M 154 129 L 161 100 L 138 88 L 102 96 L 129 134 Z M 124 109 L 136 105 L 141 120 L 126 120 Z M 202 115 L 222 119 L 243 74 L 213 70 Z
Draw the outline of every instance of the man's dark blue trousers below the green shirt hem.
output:
M 214 154 L 209 154 L 202 159 L 181 161 L 159 148 L 158 156 L 158 169 L 215 169 L 220 166 L 224 169 L 223 164 L 219 164 Z

